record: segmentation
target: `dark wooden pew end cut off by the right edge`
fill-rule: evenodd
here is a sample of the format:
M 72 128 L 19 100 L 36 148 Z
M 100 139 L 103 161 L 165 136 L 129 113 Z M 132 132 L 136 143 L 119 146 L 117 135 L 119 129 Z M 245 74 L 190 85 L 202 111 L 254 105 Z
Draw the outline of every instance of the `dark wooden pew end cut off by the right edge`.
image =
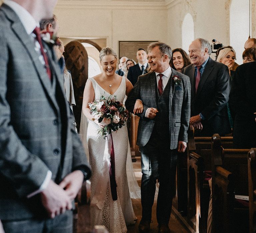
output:
M 250 233 L 256 232 L 256 148 L 248 153 L 249 224 Z

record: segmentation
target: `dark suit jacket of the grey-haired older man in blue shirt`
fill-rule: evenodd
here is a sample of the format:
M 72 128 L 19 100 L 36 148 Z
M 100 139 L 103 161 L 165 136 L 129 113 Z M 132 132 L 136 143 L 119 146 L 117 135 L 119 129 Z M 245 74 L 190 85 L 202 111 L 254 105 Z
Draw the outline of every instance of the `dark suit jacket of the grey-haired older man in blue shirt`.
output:
M 195 91 L 195 65 L 185 67 L 183 73 L 189 77 L 191 83 L 191 116 L 202 113 L 205 117 L 202 121 L 203 135 L 230 133 L 227 112 L 230 92 L 228 67 L 209 58 L 197 92 Z

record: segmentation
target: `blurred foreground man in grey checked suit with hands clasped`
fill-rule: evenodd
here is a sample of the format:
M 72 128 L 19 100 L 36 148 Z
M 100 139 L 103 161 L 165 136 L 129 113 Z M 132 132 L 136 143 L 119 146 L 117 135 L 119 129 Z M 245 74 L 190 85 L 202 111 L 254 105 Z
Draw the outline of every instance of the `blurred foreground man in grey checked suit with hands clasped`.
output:
M 0 219 L 5 232 L 72 232 L 72 202 L 89 178 L 51 41 L 37 27 L 56 0 L 0 7 Z

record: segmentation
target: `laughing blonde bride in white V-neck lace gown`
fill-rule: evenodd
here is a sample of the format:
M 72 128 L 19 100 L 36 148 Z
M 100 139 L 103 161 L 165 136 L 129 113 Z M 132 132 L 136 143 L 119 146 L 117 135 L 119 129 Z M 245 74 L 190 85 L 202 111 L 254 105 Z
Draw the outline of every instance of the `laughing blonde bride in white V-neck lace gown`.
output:
M 104 225 L 111 233 L 127 232 L 126 225 L 134 224 L 135 214 L 133 212 L 131 198 L 126 176 L 126 160 L 128 148 L 127 127 L 118 129 L 112 133 L 115 154 L 115 180 L 117 183 L 117 200 L 112 197 L 110 178 L 108 170 L 104 170 L 104 151 L 106 139 L 97 133 L 99 123 L 90 114 L 88 103 L 99 99 L 101 96 L 116 96 L 123 103 L 125 95 L 133 88 L 125 77 L 115 73 L 117 66 L 117 54 L 112 48 L 103 48 L 99 55 L 102 65 L 102 73 L 89 78 L 86 82 L 83 96 L 82 118 L 80 134 L 84 144 L 88 143 L 89 160 L 92 169 L 91 177 L 91 221 L 92 226 Z M 137 100 L 134 112 L 141 113 L 143 105 Z M 87 129 L 87 132 L 86 132 Z M 87 138 L 85 137 L 87 135 Z M 106 153 L 106 152 L 105 152 Z M 105 172 L 104 172 L 105 171 Z

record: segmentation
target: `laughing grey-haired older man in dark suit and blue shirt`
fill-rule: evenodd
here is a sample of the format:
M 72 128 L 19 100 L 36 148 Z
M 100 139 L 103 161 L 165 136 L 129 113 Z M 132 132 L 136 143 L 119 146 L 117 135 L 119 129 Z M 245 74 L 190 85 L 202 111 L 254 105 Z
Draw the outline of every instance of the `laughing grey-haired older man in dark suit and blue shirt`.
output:
M 228 67 L 210 58 L 211 45 L 196 39 L 189 46 L 192 64 L 183 73 L 191 83 L 190 124 L 198 136 L 225 135 L 231 132 L 227 103 L 230 92 Z

